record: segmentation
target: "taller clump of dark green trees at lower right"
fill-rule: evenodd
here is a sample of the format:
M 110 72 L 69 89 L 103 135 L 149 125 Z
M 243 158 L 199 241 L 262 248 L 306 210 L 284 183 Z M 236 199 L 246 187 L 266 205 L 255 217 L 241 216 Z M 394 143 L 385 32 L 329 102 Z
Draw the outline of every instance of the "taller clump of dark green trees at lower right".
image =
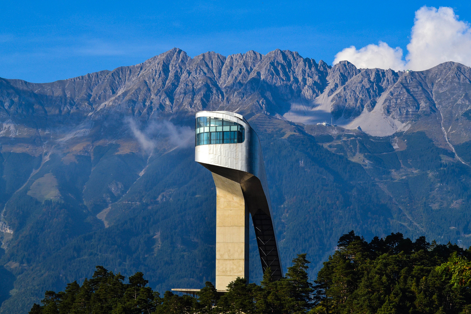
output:
M 353 231 L 324 262 L 315 281 L 314 313 L 466 313 L 471 289 L 455 286 L 437 266 L 456 254 L 471 259 L 471 250 L 437 245 L 401 233 L 366 242 Z

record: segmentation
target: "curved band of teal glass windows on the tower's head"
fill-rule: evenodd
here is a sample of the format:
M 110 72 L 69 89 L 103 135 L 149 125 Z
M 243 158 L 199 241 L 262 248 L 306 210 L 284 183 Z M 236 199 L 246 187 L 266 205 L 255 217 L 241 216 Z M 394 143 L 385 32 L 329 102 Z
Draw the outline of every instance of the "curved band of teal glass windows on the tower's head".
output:
M 245 139 L 244 126 L 213 117 L 196 118 L 195 145 L 235 144 Z

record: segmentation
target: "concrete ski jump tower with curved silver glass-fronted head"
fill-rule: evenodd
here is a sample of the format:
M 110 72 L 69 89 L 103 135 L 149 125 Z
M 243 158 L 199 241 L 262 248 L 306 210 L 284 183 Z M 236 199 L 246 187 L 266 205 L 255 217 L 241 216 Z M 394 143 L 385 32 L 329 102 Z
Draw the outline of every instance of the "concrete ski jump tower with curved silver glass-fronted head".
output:
M 283 276 L 272 221 L 260 140 L 244 117 L 228 111 L 196 113 L 195 161 L 216 185 L 216 290 L 249 278 L 249 215 L 262 269 Z M 183 291 L 182 291 L 183 292 Z

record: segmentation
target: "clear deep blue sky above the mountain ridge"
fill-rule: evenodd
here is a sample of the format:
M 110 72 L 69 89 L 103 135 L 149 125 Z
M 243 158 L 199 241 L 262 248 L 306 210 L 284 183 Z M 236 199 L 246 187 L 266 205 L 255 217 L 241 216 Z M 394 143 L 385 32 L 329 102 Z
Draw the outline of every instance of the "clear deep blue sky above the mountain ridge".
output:
M 0 77 L 56 81 L 173 47 L 189 56 L 280 48 L 332 64 L 351 45 L 406 51 L 424 5 L 471 21 L 470 1 L 0 1 Z

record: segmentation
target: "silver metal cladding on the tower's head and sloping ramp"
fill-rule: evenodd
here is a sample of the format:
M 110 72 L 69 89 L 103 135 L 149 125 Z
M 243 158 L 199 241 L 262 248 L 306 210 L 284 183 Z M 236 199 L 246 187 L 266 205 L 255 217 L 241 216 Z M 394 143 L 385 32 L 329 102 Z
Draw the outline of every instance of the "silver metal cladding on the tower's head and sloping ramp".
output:
M 252 215 L 263 271 L 271 267 L 273 279 L 277 280 L 283 276 L 283 269 L 271 218 L 273 214 L 259 137 L 240 114 L 210 111 L 196 113 L 196 118 L 204 116 L 233 121 L 245 128 L 243 143 L 195 146 L 195 161 L 213 174 L 240 184 L 245 208 Z M 221 180 L 215 180 L 217 189 L 219 181 Z M 219 274 L 219 278 L 221 276 Z M 218 269 L 216 277 L 218 278 Z

